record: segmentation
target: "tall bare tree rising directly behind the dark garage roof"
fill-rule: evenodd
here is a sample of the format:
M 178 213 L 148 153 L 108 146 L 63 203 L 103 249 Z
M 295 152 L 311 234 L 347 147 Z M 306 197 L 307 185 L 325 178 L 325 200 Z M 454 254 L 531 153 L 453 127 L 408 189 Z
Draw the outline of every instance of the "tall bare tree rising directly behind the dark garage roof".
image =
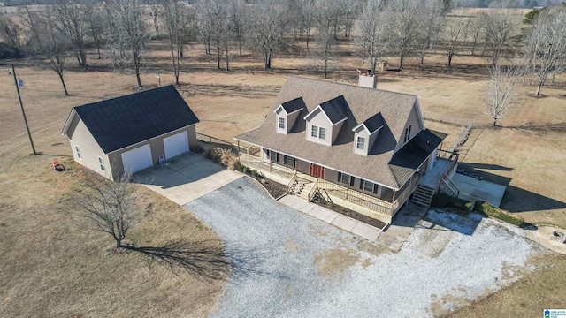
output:
M 110 19 L 108 40 L 126 64 L 133 64 L 138 87 L 142 88 L 142 58 L 149 39 L 147 15 L 141 0 L 109 0 L 106 3 Z

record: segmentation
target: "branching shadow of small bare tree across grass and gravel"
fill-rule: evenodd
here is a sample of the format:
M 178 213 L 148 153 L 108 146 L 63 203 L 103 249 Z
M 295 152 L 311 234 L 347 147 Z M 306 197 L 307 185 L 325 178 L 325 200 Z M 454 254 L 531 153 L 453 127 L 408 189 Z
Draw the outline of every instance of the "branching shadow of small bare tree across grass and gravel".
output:
M 163 246 L 123 246 L 149 256 L 151 263 L 167 267 L 173 274 L 189 272 L 205 280 L 225 280 L 229 276 L 273 276 L 258 268 L 264 253 L 256 250 L 226 248 L 217 241 L 174 240 Z

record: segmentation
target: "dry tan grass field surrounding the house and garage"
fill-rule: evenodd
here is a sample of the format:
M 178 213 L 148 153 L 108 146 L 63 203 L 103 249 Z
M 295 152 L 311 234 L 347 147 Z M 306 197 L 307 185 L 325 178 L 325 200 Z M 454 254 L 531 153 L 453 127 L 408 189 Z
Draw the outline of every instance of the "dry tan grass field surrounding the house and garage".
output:
M 174 82 L 169 52 L 149 42 L 142 82 L 146 88 Z M 303 43 L 301 43 L 302 45 Z M 351 51 L 340 42 L 340 51 Z M 276 52 L 272 70 L 255 53 L 233 57 L 231 71 L 216 70 L 214 57 L 192 43 L 180 63 L 177 89 L 200 119 L 198 133 L 222 140 L 260 125 L 287 76 L 321 79 L 298 44 Z M 218 306 L 226 276 L 210 279 L 191 270 L 171 270 L 142 254 L 111 254 L 112 240 L 85 231 L 69 207 L 80 189 L 71 148 L 61 130 L 73 106 L 138 91 L 132 71 L 115 72 L 106 58 L 88 50 L 90 69 L 68 63 L 65 96 L 57 74 L 33 59 L 0 61 L 0 316 L 203 316 Z M 397 57 L 387 57 L 395 65 Z M 69 58 L 71 60 L 72 58 Z M 73 61 L 74 62 L 74 61 Z M 31 155 L 11 77 L 11 63 L 24 80 L 21 89 L 27 121 L 39 155 Z M 536 86 L 527 78 L 519 87 L 515 110 L 493 127 L 486 108 L 486 57 L 455 56 L 448 68 L 440 52 L 424 64 L 407 58 L 402 72 L 378 72 L 378 88 L 418 95 L 424 116 L 473 121 L 460 148 L 461 167 L 508 186 L 501 208 L 535 226 L 566 229 L 566 76 L 532 96 Z M 356 85 L 360 58 L 342 54 L 329 79 Z M 437 121 L 426 121 L 441 129 Z M 457 131 L 457 129 L 456 129 Z M 452 137 L 451 137 L 452 138 Z M 51 162 L 71 168 L 56 173 Z M 190 242 L 218 254 L 223 246 L 193 214 L 141 186 L 141 208 L 147 217 L 131 233 L 136 246 Z M 456 317 L 536 315 L 545 307 L 566 307 L 566 257 L 547 254 L 534 271 L 499 292 L 463 304 Z M 465 306 L 464 306 L 465 305 Z M 527 314 L 525 314 L 527 313 Z

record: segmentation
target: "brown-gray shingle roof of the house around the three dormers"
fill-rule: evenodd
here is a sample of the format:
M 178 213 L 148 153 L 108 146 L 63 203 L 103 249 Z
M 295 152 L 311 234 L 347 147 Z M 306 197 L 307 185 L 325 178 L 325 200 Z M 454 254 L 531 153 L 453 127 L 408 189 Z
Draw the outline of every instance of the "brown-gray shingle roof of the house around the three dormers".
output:
M 345 111 L 348 119 L 342 125 L 332 147 L 305 140 L 305 125 L 304 120 L 301 120 L 302 117 L 297 119 L 291 132 L 276 133 L 276 115 L 273 110 L 281 103 L 302 97 L 307 107 L 302 111 L 306 114 L 314 110 L 317 105 L 340 96 L 346 102 Z M 416 95 L 290 76 L 275 98 L 264 124 L 236 136 L 235 139 L 398 189 L 400 188 L 398 179 L 402 178 L 394 176 L 388 163 L 393 157 L 397 140 L 402 138 L 403 129 L 416 102 Z M 368 156 L 354 154 L 352 128 L 378 113 L 381 113 L 384 127 L 379 131 L 371 153 Z

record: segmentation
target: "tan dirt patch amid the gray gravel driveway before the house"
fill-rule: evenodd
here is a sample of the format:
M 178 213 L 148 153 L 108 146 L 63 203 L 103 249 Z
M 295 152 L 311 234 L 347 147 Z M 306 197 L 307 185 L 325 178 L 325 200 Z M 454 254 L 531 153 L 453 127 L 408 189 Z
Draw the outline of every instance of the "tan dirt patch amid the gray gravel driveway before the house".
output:
M 339 245 L 320 254 L 313 255 L 317 270 L 322 276 L 340 281 L 346 270 L 361 261 L 360 254 L 353 248 Z

